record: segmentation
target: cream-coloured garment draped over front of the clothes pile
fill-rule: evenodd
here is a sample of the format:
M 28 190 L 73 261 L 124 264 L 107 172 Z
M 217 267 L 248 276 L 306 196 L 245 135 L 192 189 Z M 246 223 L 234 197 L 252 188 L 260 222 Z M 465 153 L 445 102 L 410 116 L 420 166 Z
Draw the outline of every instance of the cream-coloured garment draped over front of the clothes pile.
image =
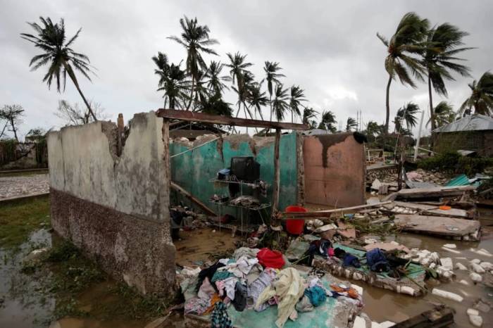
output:
M 299 298 L 303 296 L 304 284 L 304 279 L 300 277 L 299 272 L 292 267 L 287 267 L 277 275 L 275 282 L 258 297 L 255 309 L 258 310 L 259 305 L 277 296 L 277 320 L 275 324 L 279 328 L 283 327 L 289 315 L 294 311 Z

